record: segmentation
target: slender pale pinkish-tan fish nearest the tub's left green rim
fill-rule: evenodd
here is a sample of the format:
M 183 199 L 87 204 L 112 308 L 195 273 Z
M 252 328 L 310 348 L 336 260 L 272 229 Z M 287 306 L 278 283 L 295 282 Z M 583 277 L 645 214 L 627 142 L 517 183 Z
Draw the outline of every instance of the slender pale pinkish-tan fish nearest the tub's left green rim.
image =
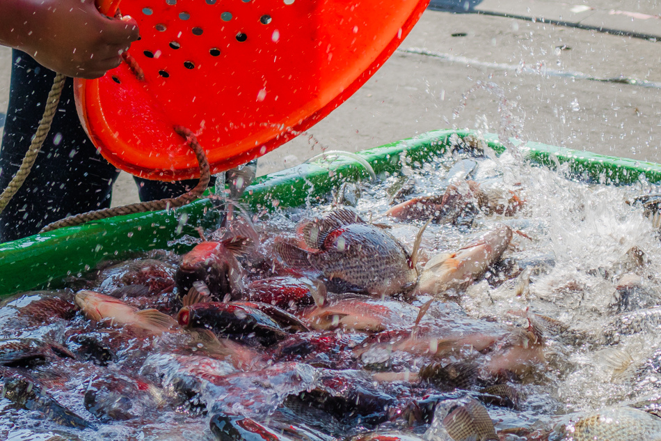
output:
M 90 320 L 129 327 L 147 334 L 161 334 L 175 330 L 177 322 L 156 309 L 138 310 L 121 300 L 83 290 L 76 294 L 76 304 Z

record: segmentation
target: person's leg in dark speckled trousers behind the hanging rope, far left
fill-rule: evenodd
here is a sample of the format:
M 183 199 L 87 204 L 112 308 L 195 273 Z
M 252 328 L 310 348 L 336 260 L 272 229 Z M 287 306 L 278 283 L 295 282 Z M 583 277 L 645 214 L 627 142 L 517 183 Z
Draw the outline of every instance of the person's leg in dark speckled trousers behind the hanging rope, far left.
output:
M 55 73 L 13 51 L 10 99 L 0 148 L 0 191 L 13 178 L 43 114 Z M 118 171 L 97 153 L 78 119 L 67 79 L 51 130 L 29 177 L 0 214 L 0 242 L 50 222 L 110 206 Z

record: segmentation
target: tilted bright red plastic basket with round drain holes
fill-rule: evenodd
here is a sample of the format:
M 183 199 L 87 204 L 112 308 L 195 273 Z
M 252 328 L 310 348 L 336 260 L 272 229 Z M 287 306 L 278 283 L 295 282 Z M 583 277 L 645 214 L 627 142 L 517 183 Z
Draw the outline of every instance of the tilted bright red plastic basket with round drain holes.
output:
M 118 1 L 102 11 L 113 15 Z M 429 0 L 124 0 L 140 26 L 127 63 L 77 80 L 102 155 L 157 180 L 198 176 L 173 127 L 196 133 L 212 173 L 277 148 L 362 86 Z

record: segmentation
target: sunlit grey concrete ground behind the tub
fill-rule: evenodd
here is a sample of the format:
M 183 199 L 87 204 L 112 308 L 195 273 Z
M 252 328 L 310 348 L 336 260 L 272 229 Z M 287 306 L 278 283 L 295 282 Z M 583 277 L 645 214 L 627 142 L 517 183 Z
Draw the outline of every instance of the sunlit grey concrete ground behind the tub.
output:
M 475 91 L 454 114 L 478 81 L 502 90 L 524 139 L 661 162 L 661 1 L 588 1 L 433 0 L 441 10 L 427 10 L 374 77 L 309 130 L 314 143 L 290 141 L 262 157 L 258 173 L 322 148 L 362 150 L 445 127 L 500 132 L 495 93 Z M 0 48 L 0 112 L 8 81 Z M 113 204 L 134 201 L 122 173 Z

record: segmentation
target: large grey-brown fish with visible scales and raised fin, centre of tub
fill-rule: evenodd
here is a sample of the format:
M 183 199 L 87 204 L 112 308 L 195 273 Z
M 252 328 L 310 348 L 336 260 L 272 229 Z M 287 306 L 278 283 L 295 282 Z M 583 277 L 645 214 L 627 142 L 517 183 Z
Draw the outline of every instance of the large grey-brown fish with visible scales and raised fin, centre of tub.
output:
M 305 248 L 278 240 L 276 253 L 294 272 L 322 278 L 329 291 L 390 297 L 415 285 L 415 252 L 408 254 L 392 235 L 347 208 L 304 222 L 298 230 Z

